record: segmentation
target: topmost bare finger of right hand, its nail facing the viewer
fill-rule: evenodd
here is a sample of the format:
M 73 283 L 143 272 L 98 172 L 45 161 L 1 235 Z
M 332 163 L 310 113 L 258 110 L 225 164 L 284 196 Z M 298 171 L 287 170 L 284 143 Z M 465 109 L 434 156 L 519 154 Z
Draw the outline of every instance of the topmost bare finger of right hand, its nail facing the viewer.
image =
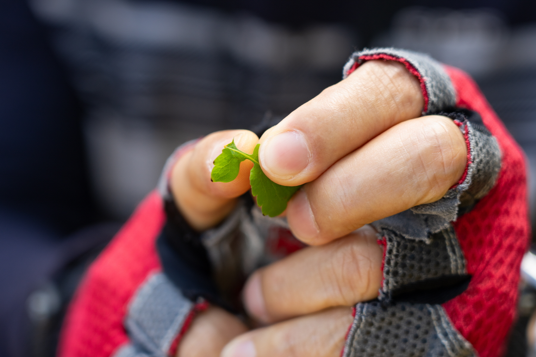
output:
M 419 80 L 403 64 L 368 61 L 267 131 L 260 165 L 280 185 L 307 183 L 391 126 L 419 117 L 423 105 Z

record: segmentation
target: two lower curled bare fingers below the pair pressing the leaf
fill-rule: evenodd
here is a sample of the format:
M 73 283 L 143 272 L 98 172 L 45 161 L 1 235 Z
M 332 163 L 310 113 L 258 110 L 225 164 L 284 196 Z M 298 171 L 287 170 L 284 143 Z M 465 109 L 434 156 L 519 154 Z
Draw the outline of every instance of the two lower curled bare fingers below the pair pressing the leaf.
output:
M 271 325 L 235 338 L 221 357 L 338 357 L 351 306 L 377 297 L 382 249 L 366 225 L 256 271 L 244 288 L 250 315 Z

